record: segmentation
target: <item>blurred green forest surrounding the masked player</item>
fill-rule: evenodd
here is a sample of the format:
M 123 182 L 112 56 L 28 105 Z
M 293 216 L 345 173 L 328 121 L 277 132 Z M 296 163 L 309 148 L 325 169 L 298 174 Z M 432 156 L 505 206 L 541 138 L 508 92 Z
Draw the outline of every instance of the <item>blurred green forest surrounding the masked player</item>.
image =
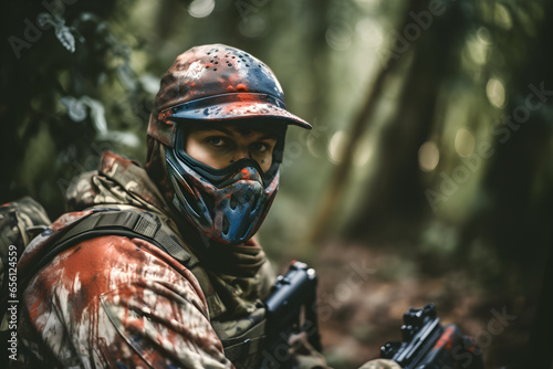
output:
M 289 130 L 260 240 L 281 272 L 317 268 L 330 363 L 434 302 L 489 368 L 549 367 L 551 1 L 11 0 L 1 19 L 0 202 L 55 219 L 103 150 L 144 161 L 164 72 L 230 44 L 314 126 Z

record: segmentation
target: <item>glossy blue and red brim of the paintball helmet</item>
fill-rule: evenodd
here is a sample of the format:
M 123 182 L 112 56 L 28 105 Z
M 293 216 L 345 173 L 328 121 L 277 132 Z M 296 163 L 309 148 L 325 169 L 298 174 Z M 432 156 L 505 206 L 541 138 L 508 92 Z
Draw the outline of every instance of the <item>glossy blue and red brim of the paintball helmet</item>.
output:
M 175 120 L 251 120 L 252 118 L 270 118 L 278 123 L 294 125 L 305 129 L 313 127 L 299 116 L 288 112 L 284 104 L 269 95 L 263 94 L 226 94 L 217 98 L 195 101 L 174 106 L 165 115 L 167 119 Z

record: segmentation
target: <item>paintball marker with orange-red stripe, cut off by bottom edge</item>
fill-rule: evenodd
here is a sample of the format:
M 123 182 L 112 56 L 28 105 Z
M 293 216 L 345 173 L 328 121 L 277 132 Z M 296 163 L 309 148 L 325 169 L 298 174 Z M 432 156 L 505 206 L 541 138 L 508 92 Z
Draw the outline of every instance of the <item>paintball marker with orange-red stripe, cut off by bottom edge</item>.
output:
M 482 369 L 482 354 L 476 341 L 463 337 L 453 325 L 441 326 L 434 304 L 409 308 L 404 315 L 401 341 L 387 342 L 380 357 L 408 369 Z

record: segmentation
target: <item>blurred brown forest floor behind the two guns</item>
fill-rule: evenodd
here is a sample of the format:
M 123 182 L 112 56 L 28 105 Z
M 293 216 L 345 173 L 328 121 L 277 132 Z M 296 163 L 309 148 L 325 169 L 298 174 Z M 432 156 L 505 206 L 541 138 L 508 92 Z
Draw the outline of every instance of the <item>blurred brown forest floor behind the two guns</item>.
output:
M 386 249 L 328 243 L 315 262 L 320 329 L 328 363 L 358 368 L 400 340 L 409 307 L 434 303 L 442 324 L 456 324 L 483 350 L 486 368 L 520 361 L 534 307 L 528 296 L 486 291 L 468 272 L 429 277 L 414 262 Z

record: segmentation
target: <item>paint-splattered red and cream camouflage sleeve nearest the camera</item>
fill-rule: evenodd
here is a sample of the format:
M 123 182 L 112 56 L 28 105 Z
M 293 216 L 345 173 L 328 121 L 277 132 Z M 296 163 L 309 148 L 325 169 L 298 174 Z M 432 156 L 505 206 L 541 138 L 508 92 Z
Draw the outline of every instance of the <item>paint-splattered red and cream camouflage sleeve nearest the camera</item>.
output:
M 61 367 L 231 368 L 191 273 L 142 240 L 103 236 L 60 254 L 24 293 Z

